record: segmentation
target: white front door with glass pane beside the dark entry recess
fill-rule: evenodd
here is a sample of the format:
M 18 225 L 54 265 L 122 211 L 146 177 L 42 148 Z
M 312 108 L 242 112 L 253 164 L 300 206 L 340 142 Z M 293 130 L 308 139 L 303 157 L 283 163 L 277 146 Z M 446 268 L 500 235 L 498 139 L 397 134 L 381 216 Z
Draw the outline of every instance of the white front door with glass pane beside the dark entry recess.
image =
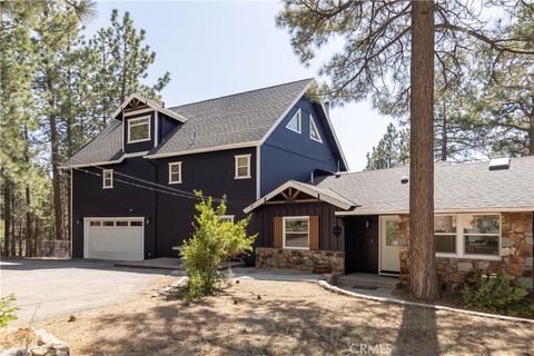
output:
M 403 239 L 398 235 L 397 216 L 380 217 L 380 273 L 398 274 L 400 270 L 399 246 Z

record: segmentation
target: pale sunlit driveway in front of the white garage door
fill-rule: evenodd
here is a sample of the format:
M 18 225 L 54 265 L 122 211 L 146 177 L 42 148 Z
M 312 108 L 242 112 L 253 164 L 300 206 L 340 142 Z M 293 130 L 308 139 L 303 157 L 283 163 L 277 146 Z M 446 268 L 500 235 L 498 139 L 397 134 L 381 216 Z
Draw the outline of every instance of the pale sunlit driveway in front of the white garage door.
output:
M 14 293 L 20 308 L 12 325 L 119 303 L 170 273 L 82 259 L 7 260 L 0 269 L 0 294 Z

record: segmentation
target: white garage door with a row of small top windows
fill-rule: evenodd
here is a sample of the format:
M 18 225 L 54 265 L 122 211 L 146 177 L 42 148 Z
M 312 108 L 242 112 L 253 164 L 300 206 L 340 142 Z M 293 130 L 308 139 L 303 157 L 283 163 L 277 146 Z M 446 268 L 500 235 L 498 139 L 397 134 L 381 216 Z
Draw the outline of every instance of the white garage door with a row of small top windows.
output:
M 83 257 L 118 260 L 144 259 L 142 218 L 85 220 Z

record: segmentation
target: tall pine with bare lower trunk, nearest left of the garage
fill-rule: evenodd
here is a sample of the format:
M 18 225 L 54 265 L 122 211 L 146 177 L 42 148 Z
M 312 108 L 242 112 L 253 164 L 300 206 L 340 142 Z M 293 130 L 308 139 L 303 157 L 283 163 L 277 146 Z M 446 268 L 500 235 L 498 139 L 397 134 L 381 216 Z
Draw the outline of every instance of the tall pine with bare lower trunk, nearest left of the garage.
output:
M 46 132 L 46 141 L 50 149 L 50 166 L 52 172 L 52 195 L 55 216 L 55 237 L 65 239 L 66 211 L 63 207 L 62 177 L 60 165 L 65 161 L 63 135 L 66 129 L 66 115 L 76 110 L 71 97 L 72 79 L 72 48 L 79 41 L 80 23 L 83 16 L 90 13 L 90 7 L 71 7 L 61 2 L 48 2 L 37 19 L 33 29 L 33 41 L 38 48 L 37 76 L 34 78 L 34 92 L 38 98 L 38 116 L 40 125 Z M 80 12 L 79 10 L 82 9 Z M 81 107 L 81 106 L 79 106 Z M 70 138 L 71 139 L 71 138 Z M 70 144 L 69 144 L 70 145 Z

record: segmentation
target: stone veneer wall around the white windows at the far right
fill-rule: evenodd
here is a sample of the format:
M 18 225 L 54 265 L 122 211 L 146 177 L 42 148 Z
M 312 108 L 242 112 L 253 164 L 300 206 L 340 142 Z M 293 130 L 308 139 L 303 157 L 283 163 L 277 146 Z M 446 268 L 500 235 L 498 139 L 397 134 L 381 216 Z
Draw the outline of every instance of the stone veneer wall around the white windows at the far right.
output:
M 501 259 L 436 258 L 437 278 L 446 289 L 461 288 L 475 268 L 496 274 L 505 271 L 513 280 L 533 288 L 533 215 L 532 212 L 502 214 Z M 408 215 L 400 216 L 399 231 L 409 241 Z M 400 284 L 408 285 L 408 247 L 403 246 L 400 258 Z

